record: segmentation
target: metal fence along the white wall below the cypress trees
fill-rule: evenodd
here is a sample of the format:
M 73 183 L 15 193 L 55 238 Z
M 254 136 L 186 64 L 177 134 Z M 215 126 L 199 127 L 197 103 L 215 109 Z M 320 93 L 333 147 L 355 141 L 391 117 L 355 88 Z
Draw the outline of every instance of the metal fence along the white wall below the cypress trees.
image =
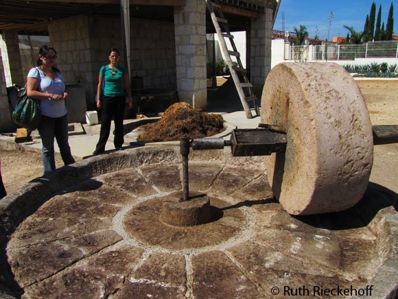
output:
M 398 58 L 398 40 L 362 45 L 304 45 L 290 47 L 290 60 L 354 60 L 355 58 Z

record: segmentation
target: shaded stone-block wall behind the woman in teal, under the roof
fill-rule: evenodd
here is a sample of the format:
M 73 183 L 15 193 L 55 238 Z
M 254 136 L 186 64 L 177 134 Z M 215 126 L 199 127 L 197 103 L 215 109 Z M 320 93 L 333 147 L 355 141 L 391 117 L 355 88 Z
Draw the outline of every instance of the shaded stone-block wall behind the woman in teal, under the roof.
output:
M 90 105 L 100 67 L 108 62 L 108 50 L 122 49 L 120 27 L 119 17 L 104 15 L 73 16 L 49 24 L 49 40 L 60 58 L 58 68 L 67 82 L 84 86 Z M 131 76 L 143 77 L 145 88 L 176 88 L 174 24 L 132 18 L 130 27 Z

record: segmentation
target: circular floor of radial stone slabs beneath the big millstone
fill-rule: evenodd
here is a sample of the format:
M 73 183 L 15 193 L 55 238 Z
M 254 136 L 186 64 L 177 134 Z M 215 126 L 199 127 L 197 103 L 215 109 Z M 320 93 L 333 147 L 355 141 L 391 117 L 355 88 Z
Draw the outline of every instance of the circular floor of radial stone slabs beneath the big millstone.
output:
M 209 196 L 213 222 L 159 220 L 163 200 L 181 189 L 178 163 L 58 191 L 8 241 L 23 296 L 283 298 L 286 286 L 364 288 L 390 254 L 380 222 L 396 211 L 373 187 L 349 211 L 292 217 L 272 198 L 262 163 L 193 160 L 189 177 L 191 190 Z

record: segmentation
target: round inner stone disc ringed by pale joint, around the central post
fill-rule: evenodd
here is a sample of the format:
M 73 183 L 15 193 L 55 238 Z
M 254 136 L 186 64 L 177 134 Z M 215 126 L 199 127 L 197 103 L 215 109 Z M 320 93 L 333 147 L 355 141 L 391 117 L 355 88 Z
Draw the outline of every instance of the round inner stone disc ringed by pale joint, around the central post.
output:
M 209 248 L 218 248 L 217 246 L 221 243 L 235 240 L 239 234 L 248 229 L 248 219 L 241 208 L 211 195 L 178 204 L 180 195 L 181 192 L 176 191 L 132 206 L 123 215 L 122 220 L 126 237 L 129 236 L 143 244 L 167 250 L 191 250 L 192 248 L 211 250 Z M 189 195 L 192 197 L 194 194 Z M 174 204 L 177 206 L 176 209 L 174 209 Z M 194 217 L 189 216 L 192 211 L 194 211 Z M 162 217 L 162 213 L 165 213 L 166 217 Z M 184 216 L 170 216 L 175 213 Z M 165 218 L 171 220 L 168 221 Z M 176 225 L 183 221 L 185 224 L 197 221 L 197 224 L 201 225 Z

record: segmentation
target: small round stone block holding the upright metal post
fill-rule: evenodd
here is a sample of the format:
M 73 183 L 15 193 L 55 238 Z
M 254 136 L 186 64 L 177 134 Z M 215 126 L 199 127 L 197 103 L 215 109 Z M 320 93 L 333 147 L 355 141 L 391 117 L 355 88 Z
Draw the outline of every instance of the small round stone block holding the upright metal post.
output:
M 210 200 L 204 193 L 190 192 L 189 200 L 181 201 L 182 192 L 163 202 L 161 222 L 172 226 L 196 226 L 211 222 Z

